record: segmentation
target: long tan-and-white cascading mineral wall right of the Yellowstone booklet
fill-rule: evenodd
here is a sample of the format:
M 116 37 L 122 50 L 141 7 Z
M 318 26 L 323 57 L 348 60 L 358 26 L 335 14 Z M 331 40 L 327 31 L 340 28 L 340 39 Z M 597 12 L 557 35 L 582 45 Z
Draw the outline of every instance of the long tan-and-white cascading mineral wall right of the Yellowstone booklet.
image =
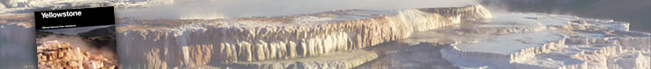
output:
M 232 20 L 178 20 L 172 27 L 118 27 L 120 58 L 161 48 L 168 65 L 183 62 L 181 47 L 214 46 L 212 62 L 259 61 L 318 56 L 404 39 L 466 20 L 490 18 L 481 5 L 397 11 L 337 10 L 325 13 Z M 307 19 L 307 20 L 303 20 Z M 321 19 L 318 21 L 315 19 Z M 190 22 L 190 23 L 188 23 Z M 183 23 L 182 25 L 174 25 Z M 151 26 L 151 25 L 150 25 Z

